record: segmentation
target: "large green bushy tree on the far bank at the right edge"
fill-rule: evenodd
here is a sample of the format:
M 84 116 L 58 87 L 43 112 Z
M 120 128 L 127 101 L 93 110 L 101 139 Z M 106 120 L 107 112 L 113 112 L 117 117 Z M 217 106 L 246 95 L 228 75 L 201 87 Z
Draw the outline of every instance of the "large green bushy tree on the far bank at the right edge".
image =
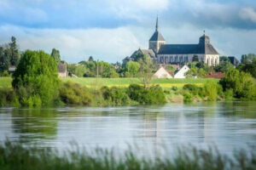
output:
M 233 90 L 234 97 L 238 99 L 253 99 L 255 84 L 253 77 L 243 71 L 230 70 L 219 82 L 224 91 Z

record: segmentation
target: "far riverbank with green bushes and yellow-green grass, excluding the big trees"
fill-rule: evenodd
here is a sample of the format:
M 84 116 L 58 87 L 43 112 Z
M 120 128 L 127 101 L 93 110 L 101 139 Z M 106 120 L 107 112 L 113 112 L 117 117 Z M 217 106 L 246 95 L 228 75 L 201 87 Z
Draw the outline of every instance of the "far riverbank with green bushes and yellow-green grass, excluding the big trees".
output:
M 10 77 L 1 77 L 0 80 L 0 105 L 42 105 L 37 96 L 29 97 L 22 90 L 15 92 L 11 87 Z M 162 105 L 166 102 L 239 100 L 234 97 L 232 90 L 224 92 L 217 79 L 153 79 L 150 88 L 143 88 L 143 85 L 139 84 L 140 81 L 138 78 L 61 78 L 57 93 L 59 97 L 55 98 L 53 104 Z M 130 84 L 132 82 L 137 83 Z

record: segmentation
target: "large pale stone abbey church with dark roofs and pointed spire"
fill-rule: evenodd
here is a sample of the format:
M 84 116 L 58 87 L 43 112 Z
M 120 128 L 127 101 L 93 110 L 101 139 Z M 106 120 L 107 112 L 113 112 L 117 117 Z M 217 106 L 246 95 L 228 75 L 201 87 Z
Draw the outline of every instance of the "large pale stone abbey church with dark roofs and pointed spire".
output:
M 148 49 L 138 49 L 132 55 L 137 53 L 148 54 L 157 63 L 166 65 L 190 63 L 195 56 L 198 61 L 207 65 L 218 65 L 219 63 L 219 54 L 205 33 L 199 38 L 197 44 L 166 44 L 165 38 L 159 31 L 158 18 L 154 34 L 149 39 Z

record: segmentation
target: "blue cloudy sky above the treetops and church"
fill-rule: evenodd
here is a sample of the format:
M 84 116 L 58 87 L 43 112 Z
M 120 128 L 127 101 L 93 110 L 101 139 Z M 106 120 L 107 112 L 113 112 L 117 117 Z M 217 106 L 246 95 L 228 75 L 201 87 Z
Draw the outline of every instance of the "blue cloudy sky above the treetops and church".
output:
M 52 48 L 68 62 L 121 61 L 148 48 L 157 14 L 167 43 L 197 43 L 203 31 L 221 55 L 256 53 L 255 0 L 0 0 L 0 44 Z

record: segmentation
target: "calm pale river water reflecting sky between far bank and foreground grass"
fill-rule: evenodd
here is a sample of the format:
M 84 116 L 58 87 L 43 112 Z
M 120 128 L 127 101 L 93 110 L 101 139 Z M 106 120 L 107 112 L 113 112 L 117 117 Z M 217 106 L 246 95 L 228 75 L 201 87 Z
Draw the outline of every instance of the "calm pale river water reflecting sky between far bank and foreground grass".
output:
M 76 142 L 139 150 L 192 144 L 232 150 L 256 146 L 256 103 L 214 102 L 162 106 L 63 107 L 51 109 L 0 108 L 0 141 L 59 149 Z

